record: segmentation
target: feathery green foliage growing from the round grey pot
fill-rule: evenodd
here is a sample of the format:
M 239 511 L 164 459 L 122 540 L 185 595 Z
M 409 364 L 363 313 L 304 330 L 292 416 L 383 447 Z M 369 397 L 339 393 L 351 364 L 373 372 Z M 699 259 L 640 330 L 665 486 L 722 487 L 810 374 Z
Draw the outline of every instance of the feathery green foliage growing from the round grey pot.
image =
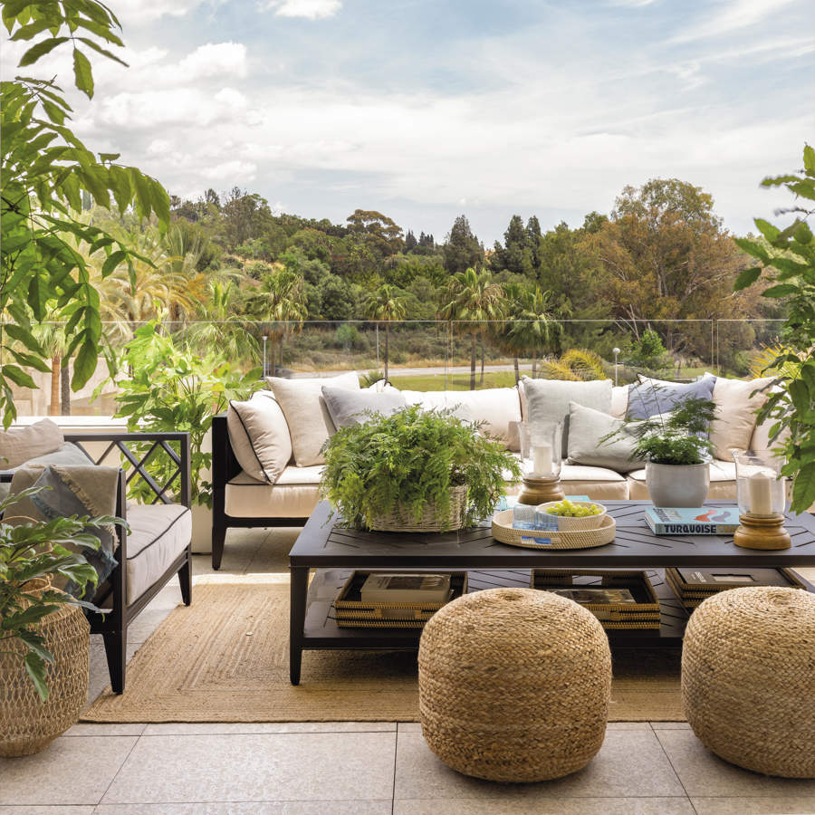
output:
M 657 395 L 661 389 L 651 386 Z M 601 443 L 615 437 L 636 439 L 629 458 L 654 464 L 696 465 L 709 461 L 713 444 L 708 437 L 716 406 L 711 399 L 686 398 L 670 412 L 647 419 L 626 419 L 622 427 L 603 436 Z

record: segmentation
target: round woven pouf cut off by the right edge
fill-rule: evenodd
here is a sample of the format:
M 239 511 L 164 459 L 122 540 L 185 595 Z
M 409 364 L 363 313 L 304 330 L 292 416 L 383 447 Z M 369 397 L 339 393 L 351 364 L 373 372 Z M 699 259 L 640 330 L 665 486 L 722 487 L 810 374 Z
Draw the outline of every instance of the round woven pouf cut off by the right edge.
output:
M 725 761 L 815 778 L 815 597 L 723 591 L 687 624 L 682 699 L 696 736 Z

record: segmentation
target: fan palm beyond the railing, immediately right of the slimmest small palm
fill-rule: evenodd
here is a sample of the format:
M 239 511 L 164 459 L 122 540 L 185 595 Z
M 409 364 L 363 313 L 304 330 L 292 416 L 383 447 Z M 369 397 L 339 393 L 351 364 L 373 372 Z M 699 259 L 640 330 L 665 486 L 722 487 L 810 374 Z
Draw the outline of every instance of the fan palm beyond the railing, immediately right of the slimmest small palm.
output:
M 503 317 L 505 297 L 503 288 L 494 283 L 491 273 L 477 272 L 472 266 L 456 272 L 447 285 L 445 301 L 441 307 L 444 320 L 461 321 L 470 334 L 470 390 L 475 390 L 475 362 L 478 338 L 484 342 L 484 333 L 490 321 Z M 484 369 L 482 367 L 482 383 Z

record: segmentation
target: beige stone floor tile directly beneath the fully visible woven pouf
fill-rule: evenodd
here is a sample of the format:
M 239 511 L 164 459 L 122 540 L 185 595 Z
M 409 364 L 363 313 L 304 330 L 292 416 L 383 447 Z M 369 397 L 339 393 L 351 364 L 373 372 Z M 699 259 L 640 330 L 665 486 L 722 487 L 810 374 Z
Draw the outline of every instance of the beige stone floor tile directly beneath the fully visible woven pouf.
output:
M 450 770 L 430 752 L 421 733 L 398 733 L 395 797 L 634 798 L 684 797 L 651 730 L 612 730 L 587 767 L 557 781 L 495 784 Z

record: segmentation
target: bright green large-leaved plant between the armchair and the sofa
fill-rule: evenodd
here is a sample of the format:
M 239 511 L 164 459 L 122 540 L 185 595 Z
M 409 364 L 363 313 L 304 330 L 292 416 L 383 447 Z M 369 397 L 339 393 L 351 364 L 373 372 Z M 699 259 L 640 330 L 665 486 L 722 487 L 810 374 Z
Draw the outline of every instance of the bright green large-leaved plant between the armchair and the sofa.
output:
M 177 347 L 172 337 L 161 334 L 156 321 L 141 326 L 125 346 L 130 379 L 118 384 L 117 417 L 127 417 L 133 431 L 189 433 L 190 497 L 192 503 L 212 507 L 212 483 L 204 477 L 212 454 L 203 449 L 212 417 L 226 409 L 230 399 L 247 398 L 263 386 L 261 369 L 243 374 L 215 352 L 201 357 Z M 147 453 L 147 449 L 144 451 Z M 151 475 L 163 475 L 167 483 L 175 465 L 166 458 L 149 461 Z M 139 479 L 131 485 L 134 497 L 152 500 L 148 484 Z

